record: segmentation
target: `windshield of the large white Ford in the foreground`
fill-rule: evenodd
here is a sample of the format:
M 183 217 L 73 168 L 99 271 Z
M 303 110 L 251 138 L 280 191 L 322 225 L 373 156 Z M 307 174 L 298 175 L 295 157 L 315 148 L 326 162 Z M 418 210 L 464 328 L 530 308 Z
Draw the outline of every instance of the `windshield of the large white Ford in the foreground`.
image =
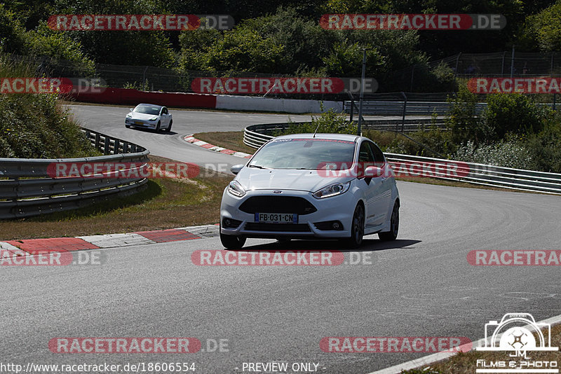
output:
M 249 167 L 320 169 L 327 163 L 350 165 L 355 142 L 337 139 L 276 139 L 253 157 Z

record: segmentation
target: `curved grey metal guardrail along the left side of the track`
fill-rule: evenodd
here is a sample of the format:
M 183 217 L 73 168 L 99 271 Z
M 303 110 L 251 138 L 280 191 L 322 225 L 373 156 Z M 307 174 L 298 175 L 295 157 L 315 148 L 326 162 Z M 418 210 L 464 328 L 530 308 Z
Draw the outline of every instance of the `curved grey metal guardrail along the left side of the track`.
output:
M 61 162 L 135 162 L 142 165 L 137 169 L 147 165 L 149 151 L 145 148 L 93 130 L 82 131 L 105 155 L 58 159 L 0 158 L 0 219 L 77 209 L 116 195 L 133 193 L 147 183 L 145 178 L 117 178 L 107 174 L 53 177 L 53 164 Z

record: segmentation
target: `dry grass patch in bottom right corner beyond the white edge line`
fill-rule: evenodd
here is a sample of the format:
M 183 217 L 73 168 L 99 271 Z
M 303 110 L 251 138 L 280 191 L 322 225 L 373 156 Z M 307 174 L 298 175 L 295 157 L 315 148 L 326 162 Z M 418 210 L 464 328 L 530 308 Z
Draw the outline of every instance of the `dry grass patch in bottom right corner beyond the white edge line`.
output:
M 551 327 L 551 347 L 561 346 L 561 324 Z M 527 351 L 528 360 L 524 361 L 560 361 L 559 351 L 536 352 Z M 473 350 L 471 352 L 459 352 L 450 359 L 433 363 L 431 366 L 424 366 L 412 370 L 403 370 L 402 374 L 473 374 L 481 366 L 477 366 L 477 361 L 483 359 L 489 361 L 519 361 L 508 356 L 508 352 L 482 352 Z

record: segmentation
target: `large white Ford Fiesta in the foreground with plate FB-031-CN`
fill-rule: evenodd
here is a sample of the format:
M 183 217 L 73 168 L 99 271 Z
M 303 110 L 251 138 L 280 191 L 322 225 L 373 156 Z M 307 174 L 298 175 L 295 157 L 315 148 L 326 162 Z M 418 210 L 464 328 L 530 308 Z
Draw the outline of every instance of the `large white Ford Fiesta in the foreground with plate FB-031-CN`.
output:
M 224 189 L 220 240 L 239 249 L 248 237 L 395 240 L 399 193 L 384 153 L 365 137 L 292 134 L 271 139 Z

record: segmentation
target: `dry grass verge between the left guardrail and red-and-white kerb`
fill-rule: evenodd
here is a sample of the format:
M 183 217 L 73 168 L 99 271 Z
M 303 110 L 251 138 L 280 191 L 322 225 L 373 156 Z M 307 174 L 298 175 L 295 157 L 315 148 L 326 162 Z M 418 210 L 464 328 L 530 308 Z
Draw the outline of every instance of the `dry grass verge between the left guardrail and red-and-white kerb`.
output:
M 151 162 L 173 162 L 150 156 Z M 144 190 L 82 209 L 0 221 L 0 240 L 75 237 L 196 226 L 219 221 L 222 191 L 233 176 L 151 179 Z M 208 175 L 206 174 L 206 175 Z

